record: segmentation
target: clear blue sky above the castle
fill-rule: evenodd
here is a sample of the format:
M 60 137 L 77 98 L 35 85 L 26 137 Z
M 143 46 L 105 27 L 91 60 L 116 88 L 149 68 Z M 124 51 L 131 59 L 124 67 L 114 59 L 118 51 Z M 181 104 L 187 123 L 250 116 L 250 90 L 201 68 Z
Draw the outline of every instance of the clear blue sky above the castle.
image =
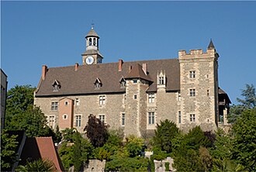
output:
M 9 88 L 36 87 L 41 67 L 81 64 L 92 21 L 103 63 L 177 58 L 178 50 L 219 58 L 219 84 L 233 103 L 256 86 L 256 2 L 1 2 L 1 67 Z

